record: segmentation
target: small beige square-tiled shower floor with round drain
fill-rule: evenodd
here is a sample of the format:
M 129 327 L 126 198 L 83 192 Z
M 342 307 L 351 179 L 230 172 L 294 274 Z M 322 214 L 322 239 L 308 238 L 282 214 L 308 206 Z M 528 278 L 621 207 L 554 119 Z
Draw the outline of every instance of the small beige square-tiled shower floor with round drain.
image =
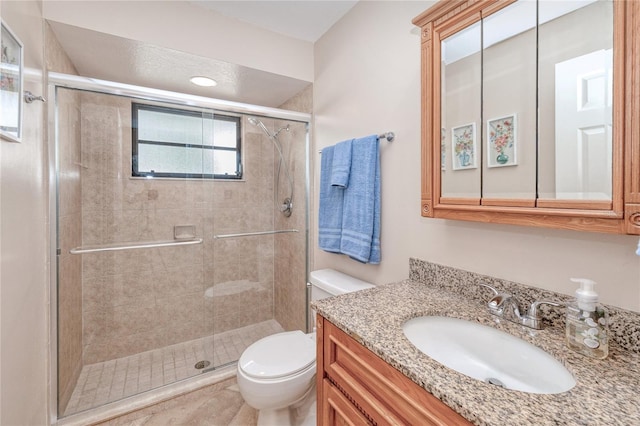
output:
M 242 352 L 262 337 L 284 331 L 269 320 L 214 336 L 179 343 L 152 351 L 82 368 L 64 415 L 99 407 L 206 371 L 198 361 L 222 366 L 240 358 Z

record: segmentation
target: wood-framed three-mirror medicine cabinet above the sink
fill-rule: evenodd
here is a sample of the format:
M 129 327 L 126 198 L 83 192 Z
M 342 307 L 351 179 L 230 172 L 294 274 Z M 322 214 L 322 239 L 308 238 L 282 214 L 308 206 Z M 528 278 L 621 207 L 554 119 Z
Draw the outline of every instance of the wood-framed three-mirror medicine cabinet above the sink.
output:
M 422 215 L 640 234 L 640 2 L 441 0 Z

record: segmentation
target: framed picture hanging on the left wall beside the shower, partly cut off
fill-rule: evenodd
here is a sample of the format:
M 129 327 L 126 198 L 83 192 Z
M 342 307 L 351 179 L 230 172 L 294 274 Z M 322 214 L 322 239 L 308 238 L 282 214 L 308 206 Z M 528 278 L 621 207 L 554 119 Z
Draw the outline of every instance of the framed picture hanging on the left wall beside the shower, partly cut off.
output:
M 0 33 L 0 136 L 22 138 L 23 44 L 2 22 Z

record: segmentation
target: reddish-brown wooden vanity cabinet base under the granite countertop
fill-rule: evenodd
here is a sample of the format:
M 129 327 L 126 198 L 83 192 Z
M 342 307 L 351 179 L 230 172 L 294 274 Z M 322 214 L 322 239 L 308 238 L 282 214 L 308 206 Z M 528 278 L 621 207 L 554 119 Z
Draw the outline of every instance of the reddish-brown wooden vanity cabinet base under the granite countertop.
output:
M 470 425 L 318 315 L 318 425 Z

